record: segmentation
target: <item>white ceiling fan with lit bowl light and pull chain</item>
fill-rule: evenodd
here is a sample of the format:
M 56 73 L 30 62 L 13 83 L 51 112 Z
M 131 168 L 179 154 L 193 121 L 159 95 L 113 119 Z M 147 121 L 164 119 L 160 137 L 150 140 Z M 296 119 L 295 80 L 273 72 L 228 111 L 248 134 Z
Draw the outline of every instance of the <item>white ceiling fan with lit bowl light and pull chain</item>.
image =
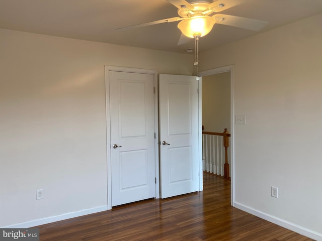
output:
M 179 39 L 178 44 L 185 44 L 191 38 L 195 39 L 194 65 L 198 65 L 198 39 L 207 35 L 212 30 L 212 27 L 215 23 L 253 31 L 259 31 L 267 25 L 267 22 L 260 20 L 218 14 L 222 11 L 241 4 L 241 0 L 215 0 L 212 3 L 206 1 L 188 3 L 186 0 L 167 1 L 178 8 L 178 15 L 180 17 L 173 17 L 169 19 L 132 25 L 128 27 L 118 28 L 116 30 L 133 29 L 155 24 L 179 22 L 178 28 L 181 30 L 182 35 Z

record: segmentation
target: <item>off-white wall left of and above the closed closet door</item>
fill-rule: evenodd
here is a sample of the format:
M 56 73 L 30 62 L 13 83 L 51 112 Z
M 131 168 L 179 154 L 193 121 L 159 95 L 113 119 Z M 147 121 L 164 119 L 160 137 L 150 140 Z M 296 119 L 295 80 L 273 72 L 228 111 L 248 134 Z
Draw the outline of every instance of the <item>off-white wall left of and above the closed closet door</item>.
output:
M 104 65 L 193 66 L 187 54 L 9 30 L 0 53 L 0 226 L 107 208 Z

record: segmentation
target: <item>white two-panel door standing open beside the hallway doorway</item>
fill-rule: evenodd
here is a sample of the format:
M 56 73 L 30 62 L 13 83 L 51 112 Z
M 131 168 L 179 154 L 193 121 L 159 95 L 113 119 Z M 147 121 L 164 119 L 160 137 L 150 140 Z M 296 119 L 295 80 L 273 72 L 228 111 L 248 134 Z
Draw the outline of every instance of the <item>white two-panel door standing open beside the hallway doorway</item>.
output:
M 196 77 L 159 75 L 159 116 L 161 197 L 199 191 Z

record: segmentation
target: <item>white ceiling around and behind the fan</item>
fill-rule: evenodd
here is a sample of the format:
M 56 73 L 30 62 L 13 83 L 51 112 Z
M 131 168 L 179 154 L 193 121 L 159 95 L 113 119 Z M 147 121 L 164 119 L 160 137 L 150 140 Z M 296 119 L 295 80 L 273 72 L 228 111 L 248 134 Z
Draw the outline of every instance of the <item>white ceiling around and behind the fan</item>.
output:
M 222 13 L 268 22 L 260 32 L 322 13 L 322 0 L 237 1 L 241 4 Z M 115 31 L 171 17 L 178 17 L 177 8 L 166 0 L 0 0 L 3 29 L 173 52 L 193 48 L 193 39 L 177 45 L 181 36 L 178 22 Z M 199 51 L 257 33 L 215 24 L 200 38 Z

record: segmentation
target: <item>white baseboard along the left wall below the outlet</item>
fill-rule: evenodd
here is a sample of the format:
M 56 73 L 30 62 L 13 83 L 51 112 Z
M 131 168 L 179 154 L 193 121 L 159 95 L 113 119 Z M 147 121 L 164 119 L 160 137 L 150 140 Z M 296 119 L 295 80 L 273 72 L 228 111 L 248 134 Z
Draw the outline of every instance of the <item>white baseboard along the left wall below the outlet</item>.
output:
M 107 210 L 107 205 L 104 205 L 100 207 L 94 207 L 94 208 L 79 210 L 75 212 L 68 212 L 68 213 L 64 213 L 56 216 L 45 217 L 45 218 L 31 220 L 27 222 L 21 222 L 21 223 L 5 226 L 2 228 L 29 228 L 29 227 L 39 226 L 39 225 L 43 225 L 51 222 L 57 222 L 57 221 L 61 221 L 61 220 L 65 220 L 73 217 L 79 217 L 79 216 L 84 216 L 84 215 L 88 215 L 96 212 L 102 212 L 106 210 Z

